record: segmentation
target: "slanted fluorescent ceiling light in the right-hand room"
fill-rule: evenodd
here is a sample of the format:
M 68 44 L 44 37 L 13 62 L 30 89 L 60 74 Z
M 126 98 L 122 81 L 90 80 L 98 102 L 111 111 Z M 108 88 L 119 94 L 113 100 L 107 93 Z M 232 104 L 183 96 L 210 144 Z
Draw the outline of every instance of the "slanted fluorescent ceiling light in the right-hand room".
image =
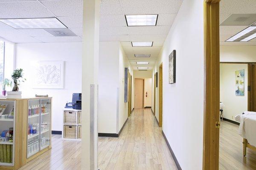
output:
M 249 41 L 256 37 L 255 33 L 256 33 L 256 26 L 249 26 L 246 29 L 244 29 L 243 31 L 239 32 L 238 34 L 234 35 L 233 37 L 229 38 L 226 41 L 228 41 L 228 42 Z

